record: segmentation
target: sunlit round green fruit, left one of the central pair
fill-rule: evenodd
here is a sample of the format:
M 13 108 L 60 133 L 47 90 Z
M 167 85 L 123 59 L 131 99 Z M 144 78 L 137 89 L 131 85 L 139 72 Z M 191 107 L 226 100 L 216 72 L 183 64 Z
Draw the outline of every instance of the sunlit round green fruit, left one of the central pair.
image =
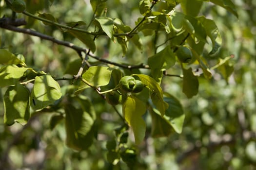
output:
M 123 76 L 119 81 L 120 89 L 126 93 L 132 92 L 135 85 L 136 82 L 133 76 Z

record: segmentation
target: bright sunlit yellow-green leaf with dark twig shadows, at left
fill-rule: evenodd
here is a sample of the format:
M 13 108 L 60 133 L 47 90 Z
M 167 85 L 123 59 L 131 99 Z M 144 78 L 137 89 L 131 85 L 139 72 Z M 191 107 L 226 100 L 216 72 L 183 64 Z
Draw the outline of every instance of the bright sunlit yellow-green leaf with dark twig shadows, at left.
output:
M 31 106 L 34 110 L 41 110 L 53 104 L 61 97 L 60 86 L 52 76 L 36 76 L 31 93 Z

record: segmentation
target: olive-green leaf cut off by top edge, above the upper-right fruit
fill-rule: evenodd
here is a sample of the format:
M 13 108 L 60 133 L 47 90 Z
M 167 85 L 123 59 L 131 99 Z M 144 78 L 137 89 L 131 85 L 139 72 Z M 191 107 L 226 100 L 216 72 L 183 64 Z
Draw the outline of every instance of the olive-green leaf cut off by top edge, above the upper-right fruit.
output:
M 202 1 L 200 0 L 181 0 L 181 8 L 186 15 L 196 17 L 200 12 Z

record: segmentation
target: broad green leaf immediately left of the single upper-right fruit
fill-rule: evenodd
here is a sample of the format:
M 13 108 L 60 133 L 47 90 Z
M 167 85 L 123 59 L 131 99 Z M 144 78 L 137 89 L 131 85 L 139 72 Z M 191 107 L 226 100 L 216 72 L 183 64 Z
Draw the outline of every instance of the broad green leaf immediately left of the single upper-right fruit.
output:
M 170 46 L 165 47 L 162 51 L 148 59 L 148 65 L 151 68 L 151 74 L 158 83 L 163 76 L 162 71 L 175 65 L 176 58 Z

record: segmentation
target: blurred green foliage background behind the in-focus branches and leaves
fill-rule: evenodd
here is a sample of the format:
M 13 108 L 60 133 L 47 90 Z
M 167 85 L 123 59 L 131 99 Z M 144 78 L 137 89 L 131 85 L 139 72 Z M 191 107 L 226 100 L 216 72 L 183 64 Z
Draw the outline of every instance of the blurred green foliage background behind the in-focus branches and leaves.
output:
M 234 58 L 221 65 L 219 69 L 212 70 L 212 79 L 206 80 L 200 75 L 199 91 L 192 99 L 187 99 L 181 93 L 181 79 L 169 76 L 162 78 L 163 90 L 179 99 L 183 106 L 185 120 L 181 134 L 172 132 L 168 137 L 153 138 L 150 136 L 152 122 L 149 119 L 150 114 L 147 113 L 143 116 L 147 126 L 144 142 L 135 145 L 131 142 L 132 139 L 128 138 L 127 143 L 126 127 L 120 127 L 121 120 L 115 110 L 99 95 L 95 95 L 92 89 L 87 89 L 86 94 L 94 104 L 97 117 L 98 140 L 94 140 L 88 150 L 74 151 L 64 142 L 66 133 L 65 121 L 62 119 L 63 110 L 37 113 L 38 115 L 24 126 L 18 123 L 12 126 L 4 125 L 2 96 L 7 88 L 3 87 L 0 90 L 0 166 L 2 166 L 0 168 L 3 170 L 25 168 L 127 170 L 133 169 L 136 165 L 140 170 L 169 170 L 170 167 L 172 170 L 254 170 L 256 167 L 256 1 L 233 1 L 236 4 L 238 18 L 224 8 L 207 2 L 202 3 L 198 15 L 213 19 L 222 37 L 221 49 L 216 54 L 208 55 L 212 50 L 211 44 L 206 45 L 203 51 L 203 57 L 210 61 L 209 65 L 215 66 L 220 59 L 231 54 L 234 54 Z M 27 0 L 26 2 L 29 12 L 49 13 L 58 18 L 59 23 L 84 21 L 86 25 L 82 27 L 86 28 L 93 17 L 89 0 Z M 136 0 L 108 0 L 106 8 L 108 17 L 117 17 L 131 28 L 135 26 L 136 19 L 141 17 Z M 177 10 L 182 11 L 180 6 L 177 6 Z M 11 10 L 5 6 L 4 0 L 0 0 L 0 16 L 3 15 L 11 16 Z M 24 16 L 18 14 L 17 17 Z M 38 20 L 25 18 L 28 21 L 25 26 L 27 28 L 33 27 L 40 33 L 84 47 L 79 39 L 68 33 L 62 34 L 53 25 L 45 26 Z M 142 51 L 129 43 L 128 51 L 125 57 L 122 57 L 123 49 L 118 43 L 107 37 L 100 37 L 95 40 L 97 46 L 95 54 L 117 63 L 134 65 L 143 63 L 149 56 L 154 55 L 152 52 L 154 37 L 143 36 L 141 40 Z M 175 39 L 173 41 L 175 42 Z M 54 77 L 63 76 L 62 73 L 68 64 L 79 58 L 78 54 L 69 48 L 5 29 L 0 29 L 0 48 L 23 54 L 28 67 L 40 68 L 44 72 L 50 72 Z M 94 59 L 90 59 L 90 62 L 98 65 L 98 61 Z M 231 66 L 234 66 L 234 72 Z M 177 66 L 171 68 L 171 72 L 180 74 L 180 70 L 176 68 Z M 137 73 L 133 70 L 127 74 Z M 63 91 L 73 90 L 69 82 L 61 81 L 59 84 Z M 143 97 L 138 96 L 138 98 L 143 100 Z M 121 107 L 118 106 L 117 109 L 120 111 Z M 59 123 L 52 125 L 51 119 Z M 116 152 L 117 150 L 120 154 Z M 121 158 L 122 161 L 118 161 Z M 7 161 L 1 162 L 1 160 Z

